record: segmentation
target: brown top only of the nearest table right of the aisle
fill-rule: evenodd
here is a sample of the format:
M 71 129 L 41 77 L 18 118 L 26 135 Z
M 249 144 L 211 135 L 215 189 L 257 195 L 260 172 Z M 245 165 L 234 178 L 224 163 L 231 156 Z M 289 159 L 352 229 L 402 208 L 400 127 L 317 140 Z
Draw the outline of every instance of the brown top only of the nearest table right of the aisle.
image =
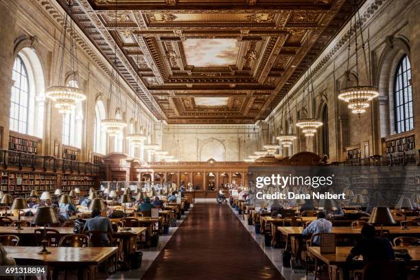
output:
M 336 253 L 320 253 L 320 247 L 312 246 L 308 250 L 318 259 L 324 261 L 329 265 L 340 265 L 346 262 L 346 257 L 349 255 L 351 246 L 340 246 L 336 247 Z M 406 249 L 412 259 L 411 262 L 420 262 L 420 246 L 406 246 L 406 247 L 395 247 L 395 249 Z

